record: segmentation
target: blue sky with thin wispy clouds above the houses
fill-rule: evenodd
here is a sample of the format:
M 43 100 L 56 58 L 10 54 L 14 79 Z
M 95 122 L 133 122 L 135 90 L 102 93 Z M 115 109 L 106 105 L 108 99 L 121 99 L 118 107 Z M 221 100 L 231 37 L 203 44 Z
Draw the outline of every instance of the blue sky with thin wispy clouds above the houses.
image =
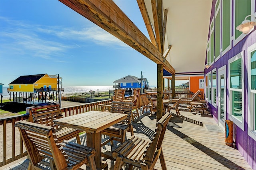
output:
M 115 0 L 148 37 L 136 0 Z M 63 86 L 111 86 L 127 75 L 156 85 L 156 63 L 58 0 L 0 0 L 0 83 L 59 74 Z M 167 85 L 167 80 L 166 80 Z

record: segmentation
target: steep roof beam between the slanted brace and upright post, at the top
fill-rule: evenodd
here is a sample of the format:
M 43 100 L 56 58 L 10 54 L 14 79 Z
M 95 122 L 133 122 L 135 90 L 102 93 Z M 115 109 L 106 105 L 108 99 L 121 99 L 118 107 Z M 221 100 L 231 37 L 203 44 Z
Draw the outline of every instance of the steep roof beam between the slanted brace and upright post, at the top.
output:
M 156 44 L 158 46 L 158 50 L 161 51 L 161 40 L 160 40 L 160 30 L 159 30 L 159 23 L 158 23 L 158 14 L 157 14 L 157 6 L 156 0 L 151 0 L 152 6 L 152 13 L 154 19 L 154 27 L 155 27 L 155 34 L 156 34 Z

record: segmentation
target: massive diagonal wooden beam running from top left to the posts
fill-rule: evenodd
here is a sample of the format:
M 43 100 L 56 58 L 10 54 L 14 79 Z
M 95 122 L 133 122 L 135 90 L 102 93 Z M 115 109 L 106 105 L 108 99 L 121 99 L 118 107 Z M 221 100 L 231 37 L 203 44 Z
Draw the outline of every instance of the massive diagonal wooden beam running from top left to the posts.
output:
M 59 0 L 164 69 L 175 73 L 163 55 L 112 0 Z

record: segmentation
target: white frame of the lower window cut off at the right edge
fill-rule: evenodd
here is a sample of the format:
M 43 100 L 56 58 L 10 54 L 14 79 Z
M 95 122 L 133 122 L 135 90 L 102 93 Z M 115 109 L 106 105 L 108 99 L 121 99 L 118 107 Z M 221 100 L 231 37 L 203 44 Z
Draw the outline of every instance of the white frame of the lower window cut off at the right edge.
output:
M 254 106 L 254 95 L 256 94 L 256 90 L 251 87 L 251 53 L 256 50 L 256 43 L 248 47 L 247 50 L 247 70 L 248 70 L 248 135 L 252 137 L 252 139 L 256 140 L 256 128 L 255 126 L 255 109 Z

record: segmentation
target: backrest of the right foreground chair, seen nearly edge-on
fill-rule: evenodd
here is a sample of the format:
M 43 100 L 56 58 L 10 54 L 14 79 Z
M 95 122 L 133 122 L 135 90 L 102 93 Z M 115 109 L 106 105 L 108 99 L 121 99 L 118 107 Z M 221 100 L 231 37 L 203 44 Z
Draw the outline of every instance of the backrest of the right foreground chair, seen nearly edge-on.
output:
M 152 138 L 151 143 L 148 146 L 148 149 L 146 150 L 146 153 L 144 155 L 144 161 L 148 163 L 148 167 L 151 166 L 151 164 L 154 164 L 153 161 L 154 156 L 156 156 L 156 151 L 161 149 L 162 142 L 164 139 L 164 134 L 168 125 L 168 122 L 170 118 L 172 117 L 171 113 L 166 113 L 157 123 L 156 123 L 156 132 L 154 137 Z

